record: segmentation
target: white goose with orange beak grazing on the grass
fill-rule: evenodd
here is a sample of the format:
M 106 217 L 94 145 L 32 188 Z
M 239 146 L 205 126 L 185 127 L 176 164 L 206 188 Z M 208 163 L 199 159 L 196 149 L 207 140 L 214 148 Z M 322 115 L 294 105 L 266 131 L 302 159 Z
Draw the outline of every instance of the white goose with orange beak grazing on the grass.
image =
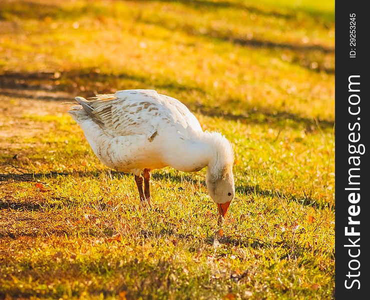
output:
M 195 172 L 207 166 L 208 192 L 225 216 L 235 194 L 232 145 L 219 132 L 203 131 L 179 100 L 152 89 L 76 100 L 80 105 L 69 113 L 95 154 L 107 166 L 135 175 L 142 202 L 150 201 L 153 169 L 171 166 Z

